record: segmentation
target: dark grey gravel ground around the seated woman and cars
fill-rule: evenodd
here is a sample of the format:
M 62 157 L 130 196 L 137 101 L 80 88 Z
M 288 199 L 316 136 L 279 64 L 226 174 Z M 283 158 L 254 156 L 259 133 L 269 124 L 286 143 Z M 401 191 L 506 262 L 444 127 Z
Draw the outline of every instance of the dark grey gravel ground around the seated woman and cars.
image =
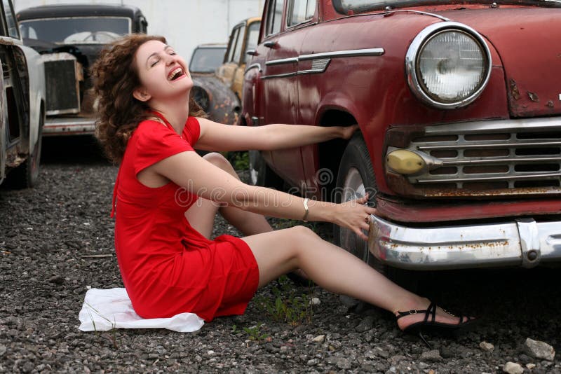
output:
M 259 290 L 243 316 L 196 333 L 83 333 L 78 312 L 88 287 L 122 286 L 109 219 L 117 169 L 88 139 L 48 140 L 39 185 L 0 190 L 2 373 L 561 373 L 559 355 L 539 359 L 525 347 L 527 338 L 561 347 L 559 270 L 547 268 L 426 277 L 426 296 L 483 317 L 459 337 L 431 336 L 433 350 L 401 333 L 391 314 L 283 281 Z M 315 228 L 330 237 L 329 226 Z M 222 233 L 236 230 L 217 219 Z M 90 257 L 100 254 L 110 256 Z M 313 310 L 302 307 L 312 297 Z

